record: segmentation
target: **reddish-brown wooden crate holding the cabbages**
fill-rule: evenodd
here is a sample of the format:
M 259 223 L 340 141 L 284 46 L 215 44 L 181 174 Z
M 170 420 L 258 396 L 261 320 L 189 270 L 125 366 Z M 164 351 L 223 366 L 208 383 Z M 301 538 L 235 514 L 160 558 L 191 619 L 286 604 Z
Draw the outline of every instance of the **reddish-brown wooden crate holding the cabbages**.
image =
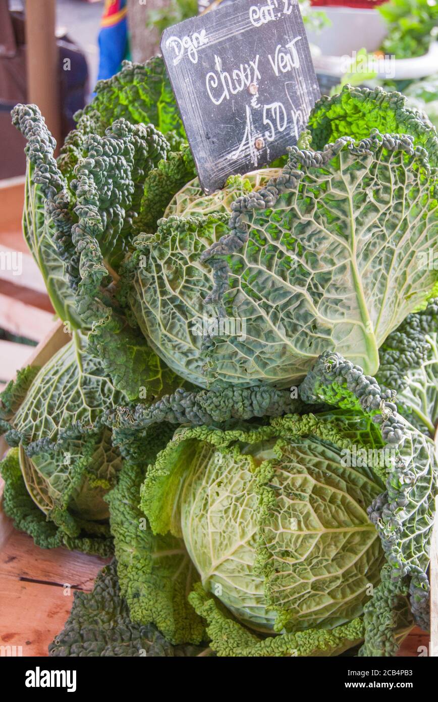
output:
M 22 194 L 20 180 L 10 183 L 8 189 L 2 189 L 0 183 L 0 212 L 8 207 L 0 231 L 0 251 L 1 246 L 8 246 L 26 252 L 20 232 Z M 30 338 L 38 340 L 39 345 L 27 346 L 23 351 L 11 342 L 0 343 L 1 362 L 5 358 L 8 363 L 7 380 L 22 365 L 44 365 L 69 338 L 61 322 L 53 323 L 50 302 L 44 299 L 44 282 L 29 254 L 27 257 L 24 265 L 29 271 L 25 277 L 28 287 L 6 279 L 5 272 L 2 277 L 0 272 L 0 326 L 9 324 L 6 327 L 9 331 L 22 336 L 32 333 L 34 336 Z M 6 449 L 4 439 L 0 438 L 0 456 Z M 94 578 L 107 560 L 65 548 L 38 548 L 30 536 L 13 529 L 11 520 L 2 512 L 1 490 L 0 478 L 0 646 L 17 647 L 15 651 L 22 656 L 46 656 L 48 644 L 62 630 L 69 615 L 74 590 L 92 590 Z M 438 583 L 437 538 L 438 529 L 435 529 L 431 564 L 434 583 Z M 70 589 L 65 585 L 70 585 Z M 437 590 L 432 590 L 435 613 L 438 613 Z M 431 635 L 437 651 L 438 614 L 432 621 Z M 414 629 L 406 637 L 399 656 L 418 656 L 419 651 L 430 650 L 429 640 L 429 634 Z

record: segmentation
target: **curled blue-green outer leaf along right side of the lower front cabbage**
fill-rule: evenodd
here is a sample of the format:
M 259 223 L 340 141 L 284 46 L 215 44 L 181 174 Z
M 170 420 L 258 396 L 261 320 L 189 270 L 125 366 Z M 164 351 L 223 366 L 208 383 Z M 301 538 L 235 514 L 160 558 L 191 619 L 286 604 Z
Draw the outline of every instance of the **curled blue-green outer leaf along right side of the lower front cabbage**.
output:
M 394 651 L 394 616 L 388 611 L 381 622 L 381 598 L 393 602 L 409 588 L 411 609 L 416 623 L 429 625 L 427 567 L 430 561 L 430 537 L 437 496 L 437 446 L 415 430 L 397 412 L 394 390 L 380 390 L 375 378 L 364 376 L 361 369 L 337 354 L 325 354 L 300 385 L 306 402 L 328 402 L 343 407 L 361 407 L 380 423 L 383 440 L 397 447 L 397 460 L 387 473 L 386 490 L 369 506 L 371 521 L 376 524 L 389 565 L 389 575 L 376 600 L 368 607 L 369 621 L 364 651 Z M 366 655 L 366 653 L 364 653 Z M 373 655 L 377 655 L 373 653 Z M 386 654 L 387 655 L 387 654 Z

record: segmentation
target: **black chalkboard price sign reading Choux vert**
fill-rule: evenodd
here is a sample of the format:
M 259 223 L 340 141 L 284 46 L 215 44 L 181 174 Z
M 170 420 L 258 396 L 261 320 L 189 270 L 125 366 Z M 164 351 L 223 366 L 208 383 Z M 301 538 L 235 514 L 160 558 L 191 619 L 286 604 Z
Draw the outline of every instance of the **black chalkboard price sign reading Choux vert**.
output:
M 205 192 L 297 143 L 319 98 L 297 0 L 237 0 L 161 38 Z

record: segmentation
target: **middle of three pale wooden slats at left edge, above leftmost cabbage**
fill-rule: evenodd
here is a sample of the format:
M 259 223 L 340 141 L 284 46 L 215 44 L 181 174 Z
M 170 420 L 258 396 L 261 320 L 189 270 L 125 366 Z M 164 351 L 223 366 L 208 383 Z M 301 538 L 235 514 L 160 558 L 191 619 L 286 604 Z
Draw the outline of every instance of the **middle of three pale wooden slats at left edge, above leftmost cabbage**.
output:
M 53 328 L 53 314 L 0 293 L 0 328 L 16 336 L 41 341 Z

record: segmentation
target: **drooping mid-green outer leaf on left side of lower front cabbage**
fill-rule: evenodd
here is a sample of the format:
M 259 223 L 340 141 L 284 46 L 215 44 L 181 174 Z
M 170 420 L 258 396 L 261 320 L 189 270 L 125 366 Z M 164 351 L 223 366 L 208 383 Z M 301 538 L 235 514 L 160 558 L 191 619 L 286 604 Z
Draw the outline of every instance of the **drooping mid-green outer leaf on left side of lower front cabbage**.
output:
M 138 508 L 140 485 L 147 462 L 165 446 L 171 432 L 165 423 L 152 429 L 143 444 L 141 464 L 126 461 L 117 487 L 107 496 L 111 531 L 117 557 L 121 594 L 128 603 L 131 621 L 154 623 L 173 644 L 199 644 L 204 624 L 187 601 L 199 579 L 183 540 L 154 536 Z

